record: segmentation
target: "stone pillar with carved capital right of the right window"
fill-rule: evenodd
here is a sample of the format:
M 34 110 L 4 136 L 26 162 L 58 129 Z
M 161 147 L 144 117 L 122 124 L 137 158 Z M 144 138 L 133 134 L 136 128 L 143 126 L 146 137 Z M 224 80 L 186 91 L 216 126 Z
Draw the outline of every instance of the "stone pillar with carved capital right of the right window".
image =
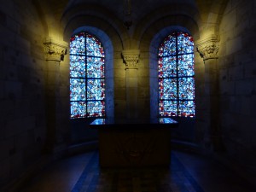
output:
M 197 43 L 196 49 L 205 64 L 206 130 L 205 144 L 212 150 L 223 150 L 219 114 L 218 38 L 211 36 Z

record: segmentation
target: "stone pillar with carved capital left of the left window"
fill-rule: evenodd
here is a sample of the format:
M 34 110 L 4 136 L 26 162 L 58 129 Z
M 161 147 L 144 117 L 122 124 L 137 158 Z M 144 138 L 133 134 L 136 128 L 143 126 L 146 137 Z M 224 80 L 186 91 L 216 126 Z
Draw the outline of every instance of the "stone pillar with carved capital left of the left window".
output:
M 46 60 L 45 70 L 45 98 L 46 98 L 46 143 L 45 152 L 55 153 L 61 146 L 61 103 L 60 103 L 60 62 L 67 53 L 67 43 L 56 42 L 51 38 L 44 39 L 44 52 Z

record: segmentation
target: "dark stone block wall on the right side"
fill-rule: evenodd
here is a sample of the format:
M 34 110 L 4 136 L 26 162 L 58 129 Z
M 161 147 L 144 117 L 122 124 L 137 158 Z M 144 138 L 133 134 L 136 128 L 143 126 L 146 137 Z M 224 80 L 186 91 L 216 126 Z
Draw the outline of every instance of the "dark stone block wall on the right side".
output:
M 221 129 L 230 160 L 256 171 L 256 7 L 230 1 L 219 26 Z

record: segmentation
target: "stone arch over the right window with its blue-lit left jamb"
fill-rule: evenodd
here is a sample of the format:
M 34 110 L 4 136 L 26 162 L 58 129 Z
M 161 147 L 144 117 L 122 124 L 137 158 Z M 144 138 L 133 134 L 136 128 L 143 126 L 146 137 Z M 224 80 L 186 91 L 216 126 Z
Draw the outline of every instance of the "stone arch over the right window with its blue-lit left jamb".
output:
M 197 15 L 197 14 L 194 14 Z M 196 16 L 197 20 L 200 20 Z M 147 53 L 148 55 L 148 73 L 149 73 L 149 84 L 150 84 L 150 115 L 151 118 L 155 118 L 158 114 L 158 84 L 157 84 L 157 51 L 161 41 L 166 38 L 168 34 L 175 30 L 181 30 L 188 32 L 193 38 L 199 38 L 199 26 L 197 20 L 189 15 L 166 15 L 163 18 L 154 20 L 145 29 L 137 31 L 136 35 L 140 38 L 139 47 L 141 52 Z M 139 34 L 142 32 L 142 34 Z M 140 36 L 140 37 L 139 37 Z M 147 69 L 145 69 L 147 70 Z

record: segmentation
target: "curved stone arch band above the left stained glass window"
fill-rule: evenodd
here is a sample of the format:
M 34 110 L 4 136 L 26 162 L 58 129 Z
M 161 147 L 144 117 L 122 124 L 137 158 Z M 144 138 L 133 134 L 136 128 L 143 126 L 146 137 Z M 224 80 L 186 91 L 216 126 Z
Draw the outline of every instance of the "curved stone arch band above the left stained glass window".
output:
M 125 44 L 129 44 L 125 40 L 128 39 L 128 33 L 122 21 L 99 5 L 82 4 L 67 9 L 61 17 L 61 25 L 64 28 L 63 39 L 65 41 L 76 28 L 93 26 L 108 34 L 108 37 L 115 43 L 115 50 L 122 50 L 127 46 Z

